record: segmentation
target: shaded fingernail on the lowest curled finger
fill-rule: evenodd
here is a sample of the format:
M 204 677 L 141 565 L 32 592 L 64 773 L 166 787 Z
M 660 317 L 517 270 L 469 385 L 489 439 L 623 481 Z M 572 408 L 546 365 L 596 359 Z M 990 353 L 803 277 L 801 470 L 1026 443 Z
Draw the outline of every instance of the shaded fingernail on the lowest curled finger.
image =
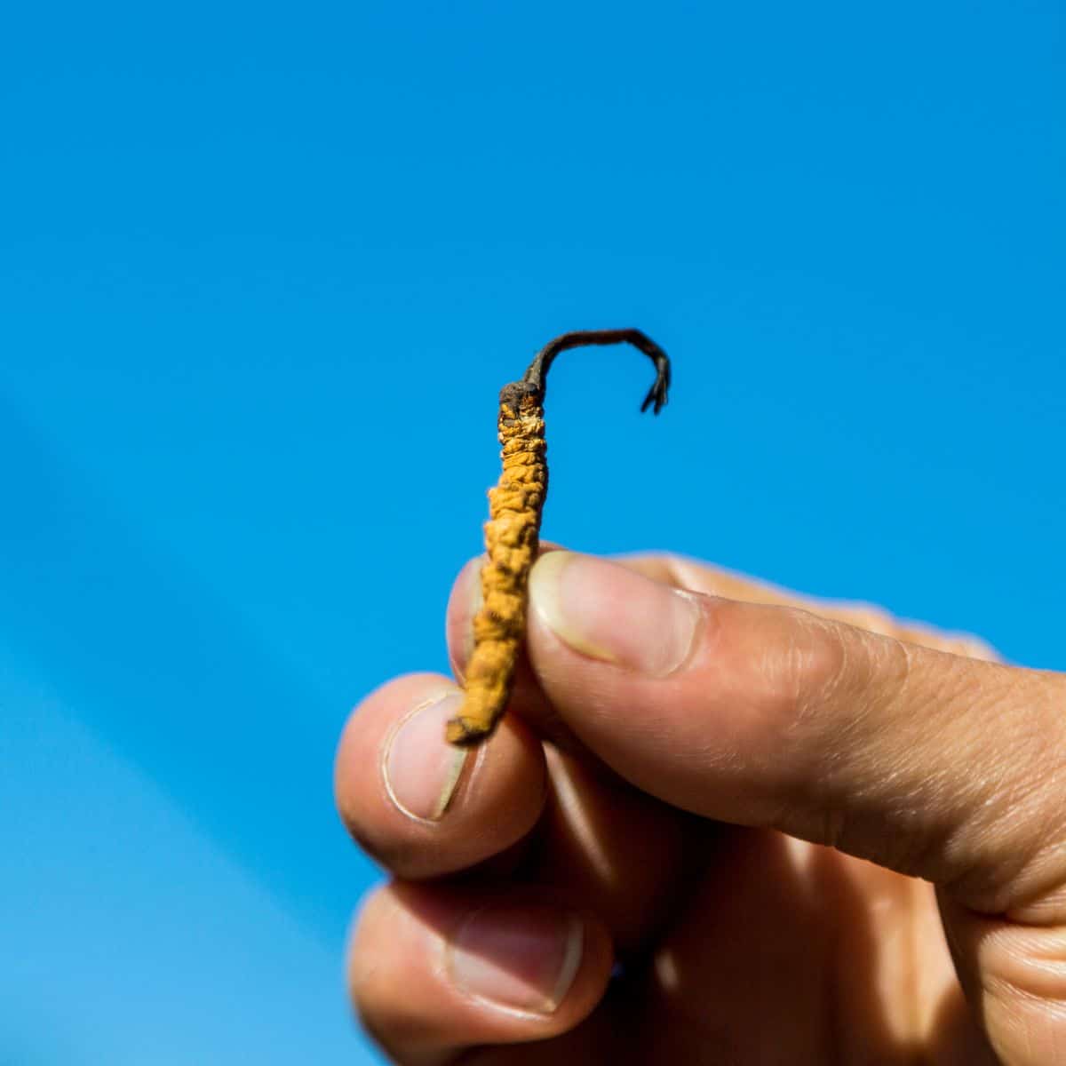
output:
M 552 1014 L 581 967 L 584 923 L 547 908 L 477 910 L 448 947 L 448 969 L 467 994 L 511 1011 Z

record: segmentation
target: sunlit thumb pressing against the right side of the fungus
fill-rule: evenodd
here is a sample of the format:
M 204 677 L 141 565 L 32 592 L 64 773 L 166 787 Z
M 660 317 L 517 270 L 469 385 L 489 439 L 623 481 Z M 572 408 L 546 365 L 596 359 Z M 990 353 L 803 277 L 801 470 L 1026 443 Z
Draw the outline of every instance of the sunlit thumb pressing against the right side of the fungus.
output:
M 533 568 L 528 643 L 575 733 L 668 803 L 924 877 L 987 915 L 1066 885 L 1057 675 L 563 551 Z

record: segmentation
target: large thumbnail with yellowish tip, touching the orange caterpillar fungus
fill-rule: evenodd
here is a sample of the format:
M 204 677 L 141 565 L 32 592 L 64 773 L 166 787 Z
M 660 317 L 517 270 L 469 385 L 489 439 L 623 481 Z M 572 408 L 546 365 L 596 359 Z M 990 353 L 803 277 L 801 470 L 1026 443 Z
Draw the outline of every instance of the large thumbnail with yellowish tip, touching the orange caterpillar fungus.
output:
M 672 674 L 685 662 L 702 615 L 691 593 L 566 551 L 537 560 L 530 604 L 575 651 L 649 677 Z

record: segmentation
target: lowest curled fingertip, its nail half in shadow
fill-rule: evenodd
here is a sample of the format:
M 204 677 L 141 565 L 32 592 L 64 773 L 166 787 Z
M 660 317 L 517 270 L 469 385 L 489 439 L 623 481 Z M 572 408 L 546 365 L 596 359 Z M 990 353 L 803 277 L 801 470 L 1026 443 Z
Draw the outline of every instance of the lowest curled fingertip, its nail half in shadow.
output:
M 602 999 L 612 965 L 596 916 L 529 889 L 394 883 L 359 916 L 348 978 L 387 1048 L 432 1054 L 568 1032 Z

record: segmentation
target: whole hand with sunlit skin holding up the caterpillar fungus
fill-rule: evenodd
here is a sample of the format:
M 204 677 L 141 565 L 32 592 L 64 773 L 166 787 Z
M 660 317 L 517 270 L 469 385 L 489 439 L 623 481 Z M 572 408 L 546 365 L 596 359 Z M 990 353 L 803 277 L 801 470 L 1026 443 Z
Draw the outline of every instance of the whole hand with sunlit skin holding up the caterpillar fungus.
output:
M 1066 1063 L 1066 676 L 664 555 L 542 555 L 527 645 L 465 763 L 442 676 L 341 740 L 393 1061 Z

